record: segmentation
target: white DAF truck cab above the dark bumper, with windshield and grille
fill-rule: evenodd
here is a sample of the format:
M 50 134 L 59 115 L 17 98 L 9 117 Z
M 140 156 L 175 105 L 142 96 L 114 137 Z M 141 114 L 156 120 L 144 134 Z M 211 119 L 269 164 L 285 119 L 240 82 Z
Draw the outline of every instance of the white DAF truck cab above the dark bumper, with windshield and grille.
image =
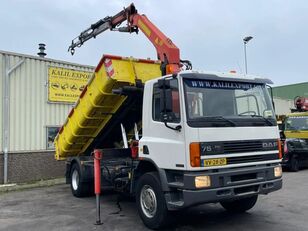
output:
M 146 82 L 139 156 L 150 158 L 160 168 L 189 171 L 244 167 L 269 160 L 279 163 L 279 133 L 267 80 L 235 77 L 194 72 L 164 77 L 172 97 L 167 112 L 171 118 L 166 122 L 171 128 L 160 111 L 159 80 Z M 180 129 L 172 129 L 176 127 Z M 270 141 L 273 146 L 264 148 Z M 229 150 L 232 144 L 238 148 Z M 191 153 L 196 146 L 200 146 L 200 153 Z M 264 156 L 267 154 L 276 155 L 269 159 Z M 244 157 L 248 156 L 250 161 L 246 162 Z

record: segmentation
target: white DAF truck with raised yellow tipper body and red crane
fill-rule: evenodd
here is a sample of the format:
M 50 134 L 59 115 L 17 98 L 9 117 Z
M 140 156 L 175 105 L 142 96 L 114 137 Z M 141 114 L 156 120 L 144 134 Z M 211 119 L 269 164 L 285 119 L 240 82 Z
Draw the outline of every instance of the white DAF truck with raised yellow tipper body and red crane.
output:
M 55 138 L 73 195 L 93 192 L 94 150 L 103 153 L 102 188 L 135 197 L 151 229 L 166 226 L 173 211 L 204 203 L 244 212 L 260 194 L 279 190 L 270 80 L 189 70 L 171 39 L 133 4 L 91 25 L 69 50 L 106 30 L 139 29 L 158 60 L 104 55 Z

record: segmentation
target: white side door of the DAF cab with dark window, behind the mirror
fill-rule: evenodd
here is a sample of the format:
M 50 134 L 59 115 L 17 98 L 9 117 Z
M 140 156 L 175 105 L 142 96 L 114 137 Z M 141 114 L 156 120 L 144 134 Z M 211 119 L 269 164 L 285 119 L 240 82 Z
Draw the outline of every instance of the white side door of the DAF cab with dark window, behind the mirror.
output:
M 170 79 L 171 112 L 167 123 L 163 122 L 161 91 L 157 81 L 145 86 L 143 101 L 143 136 L 140 140 L 140 156 L 149 158 L 163 169 L 186 169 L 185 134 L 183 128 L 183 102 L 179 80 Z M 174 129 L 172 129 L 174 128 Z

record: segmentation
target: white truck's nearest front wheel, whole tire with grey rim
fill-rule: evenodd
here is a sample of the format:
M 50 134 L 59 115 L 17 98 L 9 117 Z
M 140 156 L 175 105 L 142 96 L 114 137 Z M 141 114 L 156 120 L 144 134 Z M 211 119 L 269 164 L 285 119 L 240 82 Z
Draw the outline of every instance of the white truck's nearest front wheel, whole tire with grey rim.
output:
M 136 203 L 139 216 L 150 229 L 160 229 L 169 225 L 164 193 L 156 172 L 145 173 L 137 182 Z

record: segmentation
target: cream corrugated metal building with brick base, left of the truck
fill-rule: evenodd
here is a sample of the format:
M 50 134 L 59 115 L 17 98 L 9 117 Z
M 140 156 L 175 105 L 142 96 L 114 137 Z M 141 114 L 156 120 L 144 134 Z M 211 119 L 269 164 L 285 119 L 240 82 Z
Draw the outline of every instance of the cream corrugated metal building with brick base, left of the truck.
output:
M 64 163 L 54 161 L 48 136 L 55 133 L 52 128 L 63 124 L 72 104 L 48 101 L 49 67 L 94 70 L 91 66 L 0 51 L 0 183 L 64 174 Z

